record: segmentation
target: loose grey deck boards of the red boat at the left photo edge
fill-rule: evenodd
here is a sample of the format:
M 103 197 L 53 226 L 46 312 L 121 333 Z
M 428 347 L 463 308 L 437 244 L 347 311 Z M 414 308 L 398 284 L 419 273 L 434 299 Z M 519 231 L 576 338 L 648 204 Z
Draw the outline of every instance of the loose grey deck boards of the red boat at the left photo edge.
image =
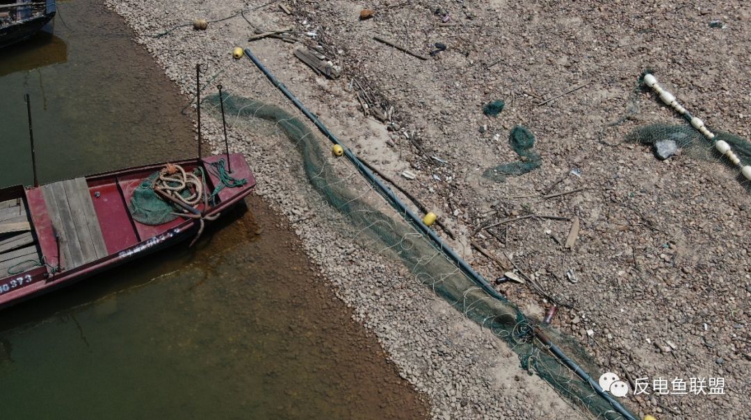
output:
M 0 278 L 39 266 L 40 262 L 23 199 L 0 202 Z

